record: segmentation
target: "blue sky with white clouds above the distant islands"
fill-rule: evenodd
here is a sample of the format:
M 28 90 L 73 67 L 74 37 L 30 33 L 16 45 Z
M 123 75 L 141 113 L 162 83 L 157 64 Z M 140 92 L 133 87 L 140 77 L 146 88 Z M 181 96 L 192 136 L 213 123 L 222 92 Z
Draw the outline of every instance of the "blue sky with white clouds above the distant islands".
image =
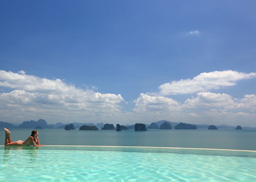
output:
M 1 1 L 0 120 L 256 127 L 255 1 Z

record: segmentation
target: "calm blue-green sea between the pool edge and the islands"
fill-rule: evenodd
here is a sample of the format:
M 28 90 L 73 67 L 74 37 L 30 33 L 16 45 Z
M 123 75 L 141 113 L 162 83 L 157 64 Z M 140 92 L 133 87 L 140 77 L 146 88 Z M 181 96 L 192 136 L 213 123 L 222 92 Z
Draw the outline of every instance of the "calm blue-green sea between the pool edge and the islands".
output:
M 10 129 L 12 141 L 26 140 L 32 129 Z M 82 131 L 39 129 L 39 139 L 45 145 L 107 145 L 152 146 L 214 149 L 256 150 L 256 130 L 134 130 Z M 4 145 L 4 130 L 0 145 Z

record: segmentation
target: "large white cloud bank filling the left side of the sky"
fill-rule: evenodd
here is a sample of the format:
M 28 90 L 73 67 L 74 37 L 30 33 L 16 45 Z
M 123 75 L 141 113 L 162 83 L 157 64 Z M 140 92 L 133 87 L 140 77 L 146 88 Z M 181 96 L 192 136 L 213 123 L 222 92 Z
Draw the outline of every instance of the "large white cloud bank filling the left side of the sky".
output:
M 15 113 L 20 116 L 34 115 L 64 120 L 97 120 L 109 114 L 121 112 L 119 105 L 124 101 L 120 94 L 102 94 L 90 89 L 76 88 L 60 79 L 50 80 L 24 71 L 13 73 L 0 70 L 0 86 L 15 89 L 0 93 L 0 113 L 8 117 Z M 77 119 L 79 118 L 79 119 Z

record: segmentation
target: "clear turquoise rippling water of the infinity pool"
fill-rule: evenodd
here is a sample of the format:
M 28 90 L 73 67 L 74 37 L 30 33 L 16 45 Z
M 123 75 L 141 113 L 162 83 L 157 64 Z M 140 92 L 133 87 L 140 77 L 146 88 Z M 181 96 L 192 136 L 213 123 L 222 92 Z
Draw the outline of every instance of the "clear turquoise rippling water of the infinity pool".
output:
M 0 181 L 255 181 L 256 152 L 0 147 Z

